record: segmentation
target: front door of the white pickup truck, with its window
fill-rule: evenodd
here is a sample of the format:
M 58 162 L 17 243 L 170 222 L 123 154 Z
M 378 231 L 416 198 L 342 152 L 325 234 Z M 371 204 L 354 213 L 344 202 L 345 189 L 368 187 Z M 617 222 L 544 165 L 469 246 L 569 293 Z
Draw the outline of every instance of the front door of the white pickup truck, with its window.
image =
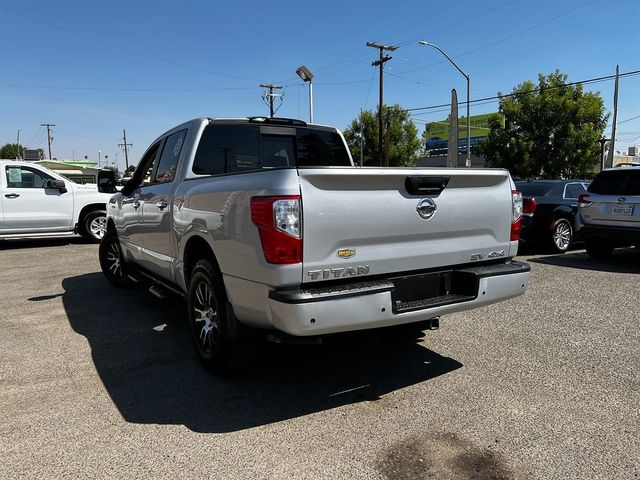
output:
M 33 166 L 6 164 L 2 172 L 2 204 L 6 230 L 15 232 L 65 231 L 73 227 L 73 190 L 51 188 L 58 180 Z

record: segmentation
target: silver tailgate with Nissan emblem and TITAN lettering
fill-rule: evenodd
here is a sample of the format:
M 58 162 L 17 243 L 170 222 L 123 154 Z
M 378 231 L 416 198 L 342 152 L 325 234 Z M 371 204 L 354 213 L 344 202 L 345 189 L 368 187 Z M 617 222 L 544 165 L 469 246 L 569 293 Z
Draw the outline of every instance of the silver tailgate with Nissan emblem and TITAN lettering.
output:
M 506 170 L 299 169 L 299 177 L 304 283 L 510 255 Z M 435 212 L 423 218 L 419 204 L 423 216 L 434 204 Z

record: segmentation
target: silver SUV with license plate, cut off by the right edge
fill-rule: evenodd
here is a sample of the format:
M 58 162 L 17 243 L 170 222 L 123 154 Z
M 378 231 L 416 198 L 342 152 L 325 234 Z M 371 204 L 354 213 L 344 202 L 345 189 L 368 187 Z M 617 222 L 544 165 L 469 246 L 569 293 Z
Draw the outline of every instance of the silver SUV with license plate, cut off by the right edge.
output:
M 617 247 L 640 246 L 640 167 L 603 170 L 578 202 L 578 226 L 591 258 L 607 258 Z

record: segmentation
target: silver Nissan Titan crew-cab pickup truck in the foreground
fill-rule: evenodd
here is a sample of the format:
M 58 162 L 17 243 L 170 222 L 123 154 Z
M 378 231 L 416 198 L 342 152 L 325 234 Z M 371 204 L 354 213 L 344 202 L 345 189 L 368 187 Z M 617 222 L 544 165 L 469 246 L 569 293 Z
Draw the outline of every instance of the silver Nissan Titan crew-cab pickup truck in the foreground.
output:
M 521 215 L 506 170 L 357 167 L 335 128 L 202 118 L 154 141 L 111 198 L 100 262 L 115 286 L 186 297 L 200 358 L 224 372 L 256 331 L 408 324 L 522 294 Z

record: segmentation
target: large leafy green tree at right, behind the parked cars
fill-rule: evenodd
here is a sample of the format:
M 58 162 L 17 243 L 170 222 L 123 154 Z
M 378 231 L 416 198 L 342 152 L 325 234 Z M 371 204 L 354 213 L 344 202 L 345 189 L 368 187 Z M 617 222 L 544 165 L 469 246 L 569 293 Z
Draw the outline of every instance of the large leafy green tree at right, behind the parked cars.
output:
M 477 152 L 489 166 L 507 168 L 519 178 L 581 178 L 600 162 L 597 143 L 607 123 L 599 93 L 567 85 L 556 70 L 540 74 L 538 85 L 526 81 L 511 96 L 501 96 L 504 128 L 495 118 Z

